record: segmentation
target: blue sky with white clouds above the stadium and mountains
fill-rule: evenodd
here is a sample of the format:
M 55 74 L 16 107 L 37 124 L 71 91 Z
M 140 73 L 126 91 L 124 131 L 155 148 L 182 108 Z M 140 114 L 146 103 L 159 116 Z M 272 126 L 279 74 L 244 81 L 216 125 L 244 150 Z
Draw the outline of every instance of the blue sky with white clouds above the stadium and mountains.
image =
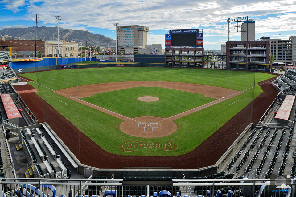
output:
M 165 46 L 169 29 L 203 29 L 204 48 L 221 49 L 228 41 L 227 18 L 245 17 L 255 22 L 255 39 L 288 39 L 296 35 L 296 0 L 0 0 L 0 30 L 56 26 L 88 30 L 115 39 L 114 23 L 149 27 L 148 45 Z M 241 33 L 230 33 L 240 41 Z

